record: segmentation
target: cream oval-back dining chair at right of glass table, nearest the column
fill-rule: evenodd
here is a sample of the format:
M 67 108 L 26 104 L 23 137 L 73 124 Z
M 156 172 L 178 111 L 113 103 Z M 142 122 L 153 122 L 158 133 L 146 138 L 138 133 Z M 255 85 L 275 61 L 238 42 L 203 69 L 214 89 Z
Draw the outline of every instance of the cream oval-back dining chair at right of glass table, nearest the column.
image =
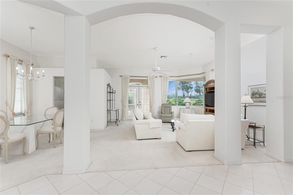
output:
M 51 126 L 45 126 L 37 130 L 36 139 L 37 139 L 37 147 L 36 150 L 39 149 L 39 134 L 52 134 L 53 136 L 53 142 L 54 142 L 54 148 L 56 148 L 56 134 L 57 132 L 60 132 L 60 142 L 62 143 L 61 138 L 61 131 L 62 131 L 62 123 L 63 123 L 63 117 L 64 117 L 64 109 L 58 110 L 53 118 L 53 125 Z

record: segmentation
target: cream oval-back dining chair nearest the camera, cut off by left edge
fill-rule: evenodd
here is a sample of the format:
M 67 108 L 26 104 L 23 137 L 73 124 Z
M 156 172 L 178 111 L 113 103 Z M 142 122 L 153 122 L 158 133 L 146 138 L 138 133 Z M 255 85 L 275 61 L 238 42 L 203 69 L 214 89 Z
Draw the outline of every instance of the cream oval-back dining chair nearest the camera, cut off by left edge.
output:
M 1 137 L 0 137 L 0 145 L 4 144 L 5 146 L 5 162 L 8 163 L 8 143 L 21 141 L 23 140 L 23 154 L 26 155 L 25 152 L 25 146 L 26 146 L 26 137 L 23 133 L 9 133 L 9 121 L 6 117 L 0 116 L 0 131 L 1 131 Z M 0 152 L 1 156 L 2 152 Z

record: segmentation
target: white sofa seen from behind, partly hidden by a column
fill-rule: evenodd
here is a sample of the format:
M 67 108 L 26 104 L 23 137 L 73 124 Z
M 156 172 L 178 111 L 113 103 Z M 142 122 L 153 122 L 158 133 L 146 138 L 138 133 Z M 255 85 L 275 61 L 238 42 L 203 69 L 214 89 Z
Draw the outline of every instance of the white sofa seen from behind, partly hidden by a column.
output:
M 241 119 L 241 148 L 245 147 L 248 119 Z M 214 116 L 187 114 L 183 121 L 175 121 L 176 141 L 185 151 L 214 150 Z M 235 129 L 236 130 L 236 129 Z

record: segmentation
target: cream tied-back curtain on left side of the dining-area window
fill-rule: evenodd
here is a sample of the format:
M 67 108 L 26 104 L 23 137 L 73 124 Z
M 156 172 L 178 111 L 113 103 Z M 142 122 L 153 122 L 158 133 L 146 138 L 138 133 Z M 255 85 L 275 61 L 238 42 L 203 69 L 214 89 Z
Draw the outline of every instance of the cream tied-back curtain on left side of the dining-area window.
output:
M 16 91 L 16 67 L 17 67 L 18 59 L 14 56 L 10 56 L 7 58 L 7 115 L 8 119 L 13 117 L 15 114 L 14 103 L 15 103 L 15 91 Z

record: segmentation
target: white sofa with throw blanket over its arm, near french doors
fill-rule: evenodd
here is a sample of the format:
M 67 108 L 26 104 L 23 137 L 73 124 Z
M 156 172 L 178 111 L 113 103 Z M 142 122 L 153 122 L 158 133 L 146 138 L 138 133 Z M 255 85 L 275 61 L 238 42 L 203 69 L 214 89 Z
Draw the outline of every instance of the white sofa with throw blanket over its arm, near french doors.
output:
M 160 120 L 160 119 L 153 119 L 153 120 Z M 153 138 L 161 139 L 162 120 L 160 120 L 161 126 L 156 128 L 150 128 L 149 119 L 137 120 L 134 114 L 132 114 L 132 121 L 134 123 L 136 139 L 153 139 Z

